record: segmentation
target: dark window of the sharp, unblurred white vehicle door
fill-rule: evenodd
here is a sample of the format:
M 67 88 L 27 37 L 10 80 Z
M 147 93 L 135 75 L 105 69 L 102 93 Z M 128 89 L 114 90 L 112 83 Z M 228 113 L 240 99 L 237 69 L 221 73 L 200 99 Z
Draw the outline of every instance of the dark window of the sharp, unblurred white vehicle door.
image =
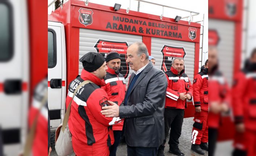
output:
M 56 34 L 53 29 L 48 29 L 48 68 L 56 66 Z

